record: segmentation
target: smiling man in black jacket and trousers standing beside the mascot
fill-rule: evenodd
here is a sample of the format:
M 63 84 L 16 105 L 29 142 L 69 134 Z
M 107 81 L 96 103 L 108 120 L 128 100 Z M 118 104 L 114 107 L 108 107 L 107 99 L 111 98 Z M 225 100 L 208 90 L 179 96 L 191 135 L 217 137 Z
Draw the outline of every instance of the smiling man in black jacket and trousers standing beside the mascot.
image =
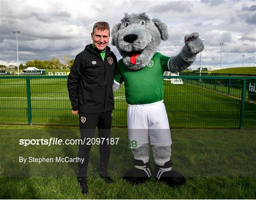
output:
M 72 113 L 79 114 L 81 139 L 86 141 L 80 144 L 78 151 L 78 157 L 84 158 L 84 162 L 78 164 L 78 182 L 83 194 L 88 192 L 86 177 L 91 150 L 89 138 L 94 137 L 96 127 L 99 138 L 104 139 L 100 144 L 100 175 L 105 182 L 113 182 L 107 173 L 110 158 L 110 139 L 107 138 L 110 138 L 114 109 L 112 85 L 117 58 L 108 46 L 109 24 L 94 24 L 91 39 L 93 44 L 86 45 L 75 57 L 67 81 Z

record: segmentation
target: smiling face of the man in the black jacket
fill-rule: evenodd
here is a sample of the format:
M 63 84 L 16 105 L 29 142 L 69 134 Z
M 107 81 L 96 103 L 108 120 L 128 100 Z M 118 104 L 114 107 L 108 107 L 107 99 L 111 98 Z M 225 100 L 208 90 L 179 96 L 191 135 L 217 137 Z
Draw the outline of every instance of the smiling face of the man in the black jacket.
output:
M 109 30 L 98 30 L 94 29 L 94 34 L 91 33 L 91 39 L 96 49 L 102 51 L 106 48 L 110 41 L 110 31 Z

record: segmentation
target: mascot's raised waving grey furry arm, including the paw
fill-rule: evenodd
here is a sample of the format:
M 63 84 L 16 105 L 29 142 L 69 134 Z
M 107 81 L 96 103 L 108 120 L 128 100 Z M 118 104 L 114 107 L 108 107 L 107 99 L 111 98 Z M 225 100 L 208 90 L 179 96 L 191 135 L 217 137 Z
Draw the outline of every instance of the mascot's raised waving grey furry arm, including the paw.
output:
M 204 49 L 204 45 L 199 38 L 199 34 L 194 32 L 184 37 L 185 45 L 182 51 L 172 56 L 168 61 L 168 69 L 170 72 L 181 72 L 188 68 L 196 59 L 196 55 Z

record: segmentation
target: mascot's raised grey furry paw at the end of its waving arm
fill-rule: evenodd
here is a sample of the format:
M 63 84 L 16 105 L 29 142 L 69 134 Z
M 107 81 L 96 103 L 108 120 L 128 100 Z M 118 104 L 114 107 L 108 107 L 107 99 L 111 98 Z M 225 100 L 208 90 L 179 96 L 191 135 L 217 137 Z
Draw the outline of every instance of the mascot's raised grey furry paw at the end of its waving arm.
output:
M 188 47 L 189 52 L 193 54 L 198 54 L 204 49 L 203 42 L 199 38 L 198 32 L 193 32 L 190 35 L 184 37 L 185 46 Z

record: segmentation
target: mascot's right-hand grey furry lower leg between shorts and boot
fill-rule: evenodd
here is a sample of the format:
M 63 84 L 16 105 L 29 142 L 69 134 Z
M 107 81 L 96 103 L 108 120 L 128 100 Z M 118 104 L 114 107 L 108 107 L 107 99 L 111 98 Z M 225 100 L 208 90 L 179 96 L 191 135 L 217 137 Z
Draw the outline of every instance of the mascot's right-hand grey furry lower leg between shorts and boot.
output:
M 153 157 L 155 159 L 155 164 L 164 166 L 166 162 L 170 160 L 171 156 L 171 146 L 152 146 Z

